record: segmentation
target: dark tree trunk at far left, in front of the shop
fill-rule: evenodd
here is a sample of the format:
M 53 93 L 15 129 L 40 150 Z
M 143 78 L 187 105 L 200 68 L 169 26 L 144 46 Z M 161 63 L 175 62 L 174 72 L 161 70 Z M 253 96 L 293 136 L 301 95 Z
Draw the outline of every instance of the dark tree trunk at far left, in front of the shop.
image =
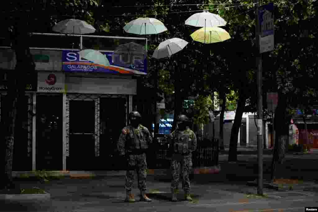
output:
M 26 16 L 27 17 L 27 16 Z M 29 34 L 28 25 L 22 21 L 17 20 L 17 25 L 14 27 L 14 31 L 11 34 L 12 48 L 15 51 L 17 64 L 14 71 L 8 74 L 8 104 L 11 111 L 7 116 L 7 120 L 4 120 L 4 143 L 5 143 L 5 156 L 4 156 L 4 173 L 1 188 L 13 188 L 12 179 L 12 161 L 13 161 L 13 147 L 15 138 L 15 124 L 17 120 L 17 105 L 24 97 L 25 80 L 29 72 L 35 70 L 35 63 L 33 61 L 30 48 L 29 48 Z

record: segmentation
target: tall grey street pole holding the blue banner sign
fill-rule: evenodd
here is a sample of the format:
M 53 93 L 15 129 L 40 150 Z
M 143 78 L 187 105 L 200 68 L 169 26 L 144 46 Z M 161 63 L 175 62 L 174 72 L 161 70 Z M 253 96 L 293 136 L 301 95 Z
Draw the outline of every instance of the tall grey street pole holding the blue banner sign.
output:
M 263 195 L 263 136 L 262 136 L 262 128 L 263 128 L 263 102 L 262 102 L 262 55 L 259 51 L 259 35 L 260 35 L 260 27 L 259 27 L 259 0 L 254 0 L 255 3 L 255 14 L 256 14 L 256 66 L 257 66 L 257 113 L 258 113 L 258 128 L 260 130 L 257 134 L 257 149 L 258 149 L 258 187 L 257 194 Z

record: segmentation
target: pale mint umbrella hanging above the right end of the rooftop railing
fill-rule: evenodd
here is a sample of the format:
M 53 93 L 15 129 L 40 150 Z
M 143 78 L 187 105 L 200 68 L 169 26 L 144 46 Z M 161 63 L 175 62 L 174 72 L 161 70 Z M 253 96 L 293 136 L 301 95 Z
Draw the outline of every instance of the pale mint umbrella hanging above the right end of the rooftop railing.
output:
M 164 24 L 156 18 L 137 18 L 124 26 L 124 31 L 138 35 L 159 34 L 167 31 Z

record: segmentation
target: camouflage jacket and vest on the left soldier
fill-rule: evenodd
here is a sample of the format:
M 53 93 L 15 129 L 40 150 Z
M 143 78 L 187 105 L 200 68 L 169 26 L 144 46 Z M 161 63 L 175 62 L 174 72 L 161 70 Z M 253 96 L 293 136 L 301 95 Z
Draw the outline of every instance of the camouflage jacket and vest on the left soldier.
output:
M 135 129 L 131 125 L 124 127 L 121 130 L 117 142 L 117 148 L 120 155 L 134 150 L 146 150 L 152 143 L 152 137 L 149 130 L 141 124 Z

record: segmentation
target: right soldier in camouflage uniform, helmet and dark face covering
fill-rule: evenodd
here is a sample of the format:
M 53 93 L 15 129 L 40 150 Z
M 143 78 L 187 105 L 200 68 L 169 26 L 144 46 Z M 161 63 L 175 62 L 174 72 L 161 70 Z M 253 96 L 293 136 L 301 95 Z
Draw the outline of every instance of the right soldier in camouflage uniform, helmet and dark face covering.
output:
M 177 119 L 177 129 L 169 135 L 169 151 L 171 157 L 171 200 L 178 201 L 176 191 L 179 184 L 180 169 L 183 176 L 184 198 L 192 201 L 190 197 L 190 179 L 189 174 L 192 168 L 192 152 L 197 148 L 197 137 L 189 129 L 187 123 L 190 120 L 185 115 L 180 115 Z

